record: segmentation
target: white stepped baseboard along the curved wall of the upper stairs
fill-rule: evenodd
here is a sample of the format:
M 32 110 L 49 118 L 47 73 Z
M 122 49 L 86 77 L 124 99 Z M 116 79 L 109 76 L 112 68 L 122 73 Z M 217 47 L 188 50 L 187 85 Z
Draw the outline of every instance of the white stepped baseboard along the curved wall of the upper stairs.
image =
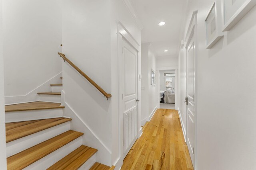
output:
M 28 103 L 28 102 L 36 102 L 39 101 L 38 92 L 50 92 L 51 86 L 50 84 L 56 84 L 61 82 L 60 77 L 62 76 L 62 72 L 58 73 L 56 76 L 53 76 L 34 90 L 30 91 L 28 94 L 21 95 L 21 96 L 5 96 L 4 101 L 5 105 L 10 104 L 21 104 L 21 103 Z

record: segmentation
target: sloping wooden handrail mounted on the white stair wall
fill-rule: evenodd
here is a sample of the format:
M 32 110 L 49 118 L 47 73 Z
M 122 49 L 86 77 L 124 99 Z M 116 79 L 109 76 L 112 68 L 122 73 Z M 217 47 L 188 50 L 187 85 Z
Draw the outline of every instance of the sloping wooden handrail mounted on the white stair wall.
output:
M 107 98 L 107 100 L 108 98 L 111 98 L 111 94 L 105 92 L 98 84 L 96 84 L 96 82 L 94 82 L 90 77 L 88 77 L 84 72 L 82 72 L 82 70 L 80 70 L 74 63 L 67 59 L 67 57 L 64 54 L 58 53 L 58 55 L 60 55 L 60 57 L 62 57 L 64 61 L 67 61 L 72 67 L 74 67 L 74 69 L 76 69 L 82 76 L 84 76 L 84 78 L 86 78 L 94 87 L 96 87 L 96 89 L 98 89 Z

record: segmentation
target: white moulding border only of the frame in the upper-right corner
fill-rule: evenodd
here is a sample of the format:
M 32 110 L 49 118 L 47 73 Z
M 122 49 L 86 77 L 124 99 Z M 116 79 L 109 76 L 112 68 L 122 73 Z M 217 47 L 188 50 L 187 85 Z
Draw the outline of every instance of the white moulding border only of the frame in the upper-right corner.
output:
M 222 23 L 223 31 L 229 31 L 238 21 L 240 21 L 254 6 L 256 5 L 256 0 L 247 0 L 242 4 L 242 6 L 235 12 L 235 14 L 227 21 L 225 24 L 225 6 L 224 0 L 222 0 Z

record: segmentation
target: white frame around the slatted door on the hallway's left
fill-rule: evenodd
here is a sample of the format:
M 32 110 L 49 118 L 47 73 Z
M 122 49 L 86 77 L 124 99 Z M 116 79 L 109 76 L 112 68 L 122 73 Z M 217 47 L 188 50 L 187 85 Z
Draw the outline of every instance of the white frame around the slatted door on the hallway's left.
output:
M 123 139 L 124 139 L 124 108 L 123 108 L 123 100 L 122 100 L 122 94 L 124 94 L 124 89 L 122 88 L 122 78 L 124 75 L 122 75 L 122 39 L 125 39 L 134 49 L 138 52 L 138 61 L 137 61 L 137 72 L 138 72 L 138 99 L 141 100 L 141 47 L 140 43 L 138 43 L 134 37 L 128 32 L 128 30 L 122 25 L 121 22 L 118 22 L 118 116 L 119 116 L 119 147 L 120 147 L 120 161 L 123 162 L 124 159 L 124 146 L 123 146 Z M 142 127 L 141 127 L 141 102 L 137 103 L 137 138 L 139 138 L 142 135 Z

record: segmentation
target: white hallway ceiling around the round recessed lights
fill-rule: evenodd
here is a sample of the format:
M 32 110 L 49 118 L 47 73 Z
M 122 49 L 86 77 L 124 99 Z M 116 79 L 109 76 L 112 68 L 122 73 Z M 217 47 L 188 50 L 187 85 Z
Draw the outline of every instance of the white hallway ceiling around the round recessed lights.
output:
M 187 0 L 130 0 L 142 21 L 142 43 L 151 42 L 156 56 L 178 56 L 180 31 Z M 159 26 L 165 21 L 164 26 Z M 164 52 L 164 50 L 168 52 Z

